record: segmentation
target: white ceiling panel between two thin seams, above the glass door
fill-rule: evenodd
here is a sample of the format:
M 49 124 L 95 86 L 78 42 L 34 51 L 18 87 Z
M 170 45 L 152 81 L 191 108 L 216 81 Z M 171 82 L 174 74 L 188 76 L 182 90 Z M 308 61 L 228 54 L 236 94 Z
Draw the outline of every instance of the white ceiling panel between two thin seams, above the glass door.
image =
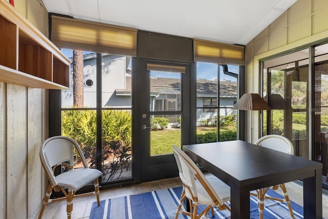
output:
M 104 6 L 99 8 L 101 23 L 176 35 L 188 11 L 188 7 L 183 6 L 190 5 L 192 0 L 142 0 L 130 1 L 126 5 L 118 1 L 112 5 L 106 4 L 106 0 L 98 2 Z

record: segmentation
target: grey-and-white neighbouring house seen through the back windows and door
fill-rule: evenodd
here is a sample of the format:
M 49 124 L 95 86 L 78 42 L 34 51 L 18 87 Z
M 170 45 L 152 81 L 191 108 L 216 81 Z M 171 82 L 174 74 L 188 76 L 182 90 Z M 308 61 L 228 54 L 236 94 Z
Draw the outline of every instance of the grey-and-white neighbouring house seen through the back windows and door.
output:
M 95 53 L 84 55 L 84 105 L 96 107 L 96 68 Z M 131 108 L 131 68 L 129 56 L 103 55 L 102 104 L 110 108 Z M 72 60 L 73 58 L 71 58 Z M 62 91 L 62 107 L 73 105 L 73 71 L 70 71 L 70 90 Z M 151 77 L 151 106 L 153 111 L 180 110 L 180 79 Z M 237 83 L 220 81 L 220 115 L 235 113 L 231 110 L 237 101 Z M 197 122 L 217 115 L 217 81 L 197 80 Z M 170 123 L 176 122 L 176 116 L 169 117 Z

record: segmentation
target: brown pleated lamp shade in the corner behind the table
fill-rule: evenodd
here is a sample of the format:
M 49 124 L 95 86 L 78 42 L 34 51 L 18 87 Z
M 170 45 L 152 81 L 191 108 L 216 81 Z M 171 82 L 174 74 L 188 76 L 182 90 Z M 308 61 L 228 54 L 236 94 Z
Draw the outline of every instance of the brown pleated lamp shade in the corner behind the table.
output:
M 237 110 L 271 110 L 271 107 L 265 103 L 262 97 L 257 93 L 245 93 L 232 109 Z

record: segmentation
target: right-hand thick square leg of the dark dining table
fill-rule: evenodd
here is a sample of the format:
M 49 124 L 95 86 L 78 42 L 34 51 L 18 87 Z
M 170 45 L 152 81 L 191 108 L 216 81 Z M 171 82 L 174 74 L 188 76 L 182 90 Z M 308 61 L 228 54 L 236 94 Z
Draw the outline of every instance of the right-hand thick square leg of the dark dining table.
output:
M 303 180 L 304 218 L 322 219 L 322 169 L 315 176 Z M 315 216 L 315 217 L 314 217 Z

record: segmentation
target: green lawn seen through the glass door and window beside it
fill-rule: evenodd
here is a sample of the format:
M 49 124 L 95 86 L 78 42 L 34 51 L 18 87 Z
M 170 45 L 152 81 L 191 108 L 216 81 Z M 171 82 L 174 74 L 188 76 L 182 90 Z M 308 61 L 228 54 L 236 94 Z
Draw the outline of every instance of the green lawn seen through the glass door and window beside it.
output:
M 221 132 L 236 130 L 236 127 L 221 127 Z M 180 129 L 164 129 L 150 132 L 150 154 L 152 156 L 173 153 L 172 145 L 181 146 Z M 216 132 L 216 127 L 197 127 L 197 134 Z

